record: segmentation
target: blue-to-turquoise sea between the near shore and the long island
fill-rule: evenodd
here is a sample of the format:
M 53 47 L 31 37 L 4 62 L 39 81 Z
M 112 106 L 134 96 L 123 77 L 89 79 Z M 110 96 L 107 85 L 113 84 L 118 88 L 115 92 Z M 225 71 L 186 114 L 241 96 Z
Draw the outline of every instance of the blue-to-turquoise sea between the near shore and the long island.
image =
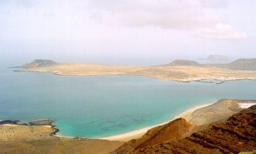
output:
M 218 99 L 256 99 L 256 81 L 175 82 L 144 76 L 0 72 L 0 119 L 53 118 L 62 136 L 106 137 L 161 124 Z

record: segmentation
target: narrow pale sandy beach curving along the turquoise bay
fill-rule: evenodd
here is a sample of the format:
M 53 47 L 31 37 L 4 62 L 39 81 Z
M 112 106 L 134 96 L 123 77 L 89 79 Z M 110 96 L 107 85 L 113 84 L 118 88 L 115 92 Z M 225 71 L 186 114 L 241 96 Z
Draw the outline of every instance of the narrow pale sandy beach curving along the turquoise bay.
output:
M 103 138 L 95 138 L 95 139 L 106 139 L 106 140 L 119 140 L 119 141 L 127 141 L 130 139 L 134 139 L 134 138 L 139 138 L 141 136 L 143 136 L 148 130 L 152 129 L 153 127 L 156 126 L 160 126 L 160 125 L 164 125 L 169 123 L 170 121 L 176 119 L 176 118 L 189 118 L 190 115 L 192 114 L 193 111 L 202 108 L 202 107 L 206 107 L 212 104 L 204 104 L 204 105 L 199 105 L 193 108 L 190 108 L 189 110 L 180 113 L 178 116 L 174 117 L 173 119 L 166 121 L 165 123 L 159 124 L 159 125 L 154 125 L 154 126 L 149 126 L 149 127 L 145 127 L 143 129 L 139 129 L 139 130 L 135 130 L 135 131 L 131 131 L 131 132 L 126 132 L 126 133 L 122 133 L 122 134 L 118 134 L 118 135 L 114 135 L 114 136 L 109 136 L 109 137 L 103 137 Z

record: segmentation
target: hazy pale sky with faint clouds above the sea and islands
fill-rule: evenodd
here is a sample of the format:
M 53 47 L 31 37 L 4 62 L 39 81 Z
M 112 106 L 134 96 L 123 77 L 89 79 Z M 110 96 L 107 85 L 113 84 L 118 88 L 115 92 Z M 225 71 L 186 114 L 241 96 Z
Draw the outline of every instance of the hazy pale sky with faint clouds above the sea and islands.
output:
M 1 0 L 0 65 L 256 58 L 256 1 Z

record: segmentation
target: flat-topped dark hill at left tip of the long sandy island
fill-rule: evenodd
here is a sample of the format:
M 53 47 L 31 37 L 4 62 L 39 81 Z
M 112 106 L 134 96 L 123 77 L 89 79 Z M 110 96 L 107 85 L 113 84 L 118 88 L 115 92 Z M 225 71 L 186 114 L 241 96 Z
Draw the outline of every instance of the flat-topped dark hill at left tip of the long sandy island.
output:
M 57 65 L 57 62 L 54 62 L 52 60 L 34 60 L 30 63 L 26 63 L 25 65 L 18 66 L 19 68 L 35 68 L 35 67 L 47 67 L 47 66 L 53 66 Z

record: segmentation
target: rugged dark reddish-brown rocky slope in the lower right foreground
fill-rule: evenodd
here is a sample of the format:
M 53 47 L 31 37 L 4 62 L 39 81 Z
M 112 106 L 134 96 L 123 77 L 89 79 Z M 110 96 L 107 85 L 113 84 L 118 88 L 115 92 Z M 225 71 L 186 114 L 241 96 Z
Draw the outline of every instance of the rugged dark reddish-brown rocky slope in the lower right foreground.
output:
M 136 140 L 135 140 L 136 141 Z M 133 143 L 136 144 L 136 143 Z M 125 149 L 115 153 L 127 153 Z M 239 153 L 256 149 L 256 105 L 233 114 L 224 123 L 180 139 L 137 148 L 130 153 Z

